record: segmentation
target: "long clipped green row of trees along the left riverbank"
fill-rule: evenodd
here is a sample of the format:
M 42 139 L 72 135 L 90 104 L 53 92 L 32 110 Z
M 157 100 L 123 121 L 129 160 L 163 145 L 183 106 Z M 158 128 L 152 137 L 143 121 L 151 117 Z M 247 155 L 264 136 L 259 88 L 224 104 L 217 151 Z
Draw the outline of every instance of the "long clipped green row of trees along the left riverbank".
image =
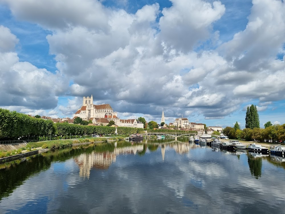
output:
M 69 123 L 54 123 L 52 120 L 32 118 L 26 114 L 0 108 L 0 140 L 39 139 L 43 136 L 105 135 L 115 134 L 115 127 L 82 126 Z M 142 133 L 142 128 L 117 127 L 117 134 Z

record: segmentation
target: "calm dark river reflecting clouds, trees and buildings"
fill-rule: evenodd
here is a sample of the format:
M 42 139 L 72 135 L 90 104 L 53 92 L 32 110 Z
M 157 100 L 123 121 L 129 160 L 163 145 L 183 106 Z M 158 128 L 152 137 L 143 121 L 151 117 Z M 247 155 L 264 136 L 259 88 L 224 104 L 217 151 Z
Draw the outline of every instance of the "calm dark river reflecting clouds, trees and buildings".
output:
M 188 138 L 85 145 L 0 165 L 0 213 L 285 213 L 283 161 Z

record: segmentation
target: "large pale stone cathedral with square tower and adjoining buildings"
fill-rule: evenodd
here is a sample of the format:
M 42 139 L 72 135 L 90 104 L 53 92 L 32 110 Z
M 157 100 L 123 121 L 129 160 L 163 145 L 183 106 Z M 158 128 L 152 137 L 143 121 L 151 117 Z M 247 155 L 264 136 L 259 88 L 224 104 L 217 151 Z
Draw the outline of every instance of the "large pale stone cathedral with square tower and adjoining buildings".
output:
M 74 118 L 80 117 L 83 120 L 91 120 L 94 125 L 106 124 L 113 120 L 117 126 L 143 128 L 143 123 L 136 119 L 120 120 L 117 117 L 117 112 L 113 111 L 110 104 L 94 105 L 92 95 L 91 97 L 83 97 L 81 108 L 73 116 Z

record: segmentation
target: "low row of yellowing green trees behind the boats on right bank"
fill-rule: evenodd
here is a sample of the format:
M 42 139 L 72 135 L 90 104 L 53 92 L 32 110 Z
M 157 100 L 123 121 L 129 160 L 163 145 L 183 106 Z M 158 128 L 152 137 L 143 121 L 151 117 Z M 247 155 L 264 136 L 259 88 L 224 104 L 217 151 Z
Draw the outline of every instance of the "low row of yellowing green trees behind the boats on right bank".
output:
M 229 136 L 231 139 L 245 139 L 248 141 L 258 140 L 285 140 L 285 124 L 273 125 L 267 128 L 245 128 L 243 130 L 235 129 L 227 126 L 223 129 L 223 134 Z

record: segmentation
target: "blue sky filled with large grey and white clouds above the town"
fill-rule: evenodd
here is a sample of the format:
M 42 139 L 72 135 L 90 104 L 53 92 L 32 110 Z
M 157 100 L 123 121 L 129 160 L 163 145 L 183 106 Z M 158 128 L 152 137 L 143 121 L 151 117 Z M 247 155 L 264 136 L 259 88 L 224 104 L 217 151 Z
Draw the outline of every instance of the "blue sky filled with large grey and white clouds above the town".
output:
M 72 117 L 285 123 L 283 0 L 2 0 L 0 106 Z

